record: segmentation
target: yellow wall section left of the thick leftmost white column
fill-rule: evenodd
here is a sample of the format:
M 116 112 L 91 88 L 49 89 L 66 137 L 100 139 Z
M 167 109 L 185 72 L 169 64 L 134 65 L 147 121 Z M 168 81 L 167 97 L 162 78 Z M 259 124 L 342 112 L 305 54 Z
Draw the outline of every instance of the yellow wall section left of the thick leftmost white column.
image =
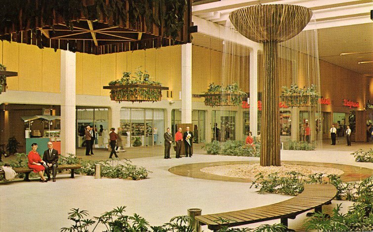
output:
M 6 79 L 9 90 L 60 92 L 60 51 L 7 41 L 0 41 L 0 50 L 0 63 L 18 72 Z

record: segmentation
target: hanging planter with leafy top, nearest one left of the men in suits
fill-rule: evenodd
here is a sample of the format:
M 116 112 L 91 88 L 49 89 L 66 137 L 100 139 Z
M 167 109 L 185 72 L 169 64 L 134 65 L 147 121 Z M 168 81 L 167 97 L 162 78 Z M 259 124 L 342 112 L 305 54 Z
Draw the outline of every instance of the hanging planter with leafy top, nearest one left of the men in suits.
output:
M 161 82 L 151 80 L 148 72 L 142 72 L 140 68 L 136 70 L 134 76 L 131 76 L 130 72 L 124 72 L 121 79 L 112 80 L 109 86 L 104 86 L 104 89 L 110 89 L 111 100 L 118 102 L 161 101 L 162 90 L 167 90 L 168 87 L 162 87 Z

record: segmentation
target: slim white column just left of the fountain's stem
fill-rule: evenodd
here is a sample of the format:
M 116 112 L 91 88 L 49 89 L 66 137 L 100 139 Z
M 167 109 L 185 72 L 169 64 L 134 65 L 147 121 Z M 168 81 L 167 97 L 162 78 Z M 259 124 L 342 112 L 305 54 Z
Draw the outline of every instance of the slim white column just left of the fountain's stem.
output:
M 258 135 L 258 50 L 250 49 L 250 131 Z

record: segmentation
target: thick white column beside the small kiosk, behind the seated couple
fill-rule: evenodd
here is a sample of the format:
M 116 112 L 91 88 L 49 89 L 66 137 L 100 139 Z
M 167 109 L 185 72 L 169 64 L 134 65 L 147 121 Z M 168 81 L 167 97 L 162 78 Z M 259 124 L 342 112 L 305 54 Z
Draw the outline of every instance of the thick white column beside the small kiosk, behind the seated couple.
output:
M 61 50 L 61 155 L 76 154 L 76 54 Z

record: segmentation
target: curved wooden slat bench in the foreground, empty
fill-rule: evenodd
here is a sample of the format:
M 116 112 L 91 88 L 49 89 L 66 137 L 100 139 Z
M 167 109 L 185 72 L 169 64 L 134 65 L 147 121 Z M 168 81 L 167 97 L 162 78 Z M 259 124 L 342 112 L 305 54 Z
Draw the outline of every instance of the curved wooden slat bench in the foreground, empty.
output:
M 281 223 L 288 227 L 288 219 L 295 219 L 296 215 L 315 209 L 320 212 L 324 204 L 331 204 L 337 190 L 330 184 L 306 184 L 302 193 L 291 199 L 271 205 L 265 205 L 245 210 L 196 216 L 199 225 L 207 225 L 208 229 L 217 231 L 221 227 L 241 226 L 273 219 L 281 219 Z M 222 222 L 221 219 L 228 222 Z

